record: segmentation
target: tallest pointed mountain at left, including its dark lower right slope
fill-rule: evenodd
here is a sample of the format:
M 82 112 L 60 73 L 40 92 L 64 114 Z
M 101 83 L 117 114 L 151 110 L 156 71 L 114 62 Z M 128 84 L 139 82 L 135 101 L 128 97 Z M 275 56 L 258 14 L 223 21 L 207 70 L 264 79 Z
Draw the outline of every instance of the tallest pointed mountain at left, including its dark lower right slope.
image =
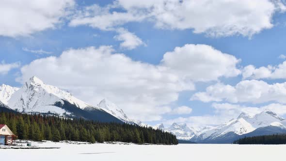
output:
M 45 113 L 122 123 L 120 119 L 105 110 L 89 105 L 71 93 L 48 85 L 37 77 L 32 77 L 16 90 L 8 99 L 7 105 L 20 113 Z

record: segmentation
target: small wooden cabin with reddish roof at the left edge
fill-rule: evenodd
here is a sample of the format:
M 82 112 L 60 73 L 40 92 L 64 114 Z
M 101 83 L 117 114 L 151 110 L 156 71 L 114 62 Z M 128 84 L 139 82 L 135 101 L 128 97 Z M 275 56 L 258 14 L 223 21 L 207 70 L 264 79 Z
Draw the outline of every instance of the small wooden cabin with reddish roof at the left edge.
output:
M 5 124 L 0 124 L 0 145 L 15 145 L 17 136 Z

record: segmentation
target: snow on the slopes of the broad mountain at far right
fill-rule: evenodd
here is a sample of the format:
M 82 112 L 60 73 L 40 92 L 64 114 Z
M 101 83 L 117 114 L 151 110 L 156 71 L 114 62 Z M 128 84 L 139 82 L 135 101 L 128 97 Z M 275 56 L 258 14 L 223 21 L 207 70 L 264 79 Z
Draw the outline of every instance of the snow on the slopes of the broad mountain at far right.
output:
M 255 129 L 268 126 L 277 126 L 286 128 L 284 125 L 284 118 L 279 117 L 276 113 L 271 111 L 263 111 L 262 113 L 255 114 L 254 116 L 241 113 L 237 119 L 232 119 L 214 129 L 210 129 L 197 136 L 197 139 L 215 139 L 223 136 L 228 132 L 242 135 L 254 131 Z M 284 125 L 283 125 L 284 124 Z

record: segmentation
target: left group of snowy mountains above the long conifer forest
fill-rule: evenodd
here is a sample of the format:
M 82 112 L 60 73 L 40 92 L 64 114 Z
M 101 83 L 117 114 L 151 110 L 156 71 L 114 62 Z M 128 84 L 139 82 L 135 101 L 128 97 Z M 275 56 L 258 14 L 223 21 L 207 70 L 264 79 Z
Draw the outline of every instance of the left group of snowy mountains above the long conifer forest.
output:
M 19 113 L 43 113 L 100 122 L 132 123 L 122 109 L 103 99 L 90 105 L 71 93 L 32 77 L 21 88 L 0 86 L 0 108 Z

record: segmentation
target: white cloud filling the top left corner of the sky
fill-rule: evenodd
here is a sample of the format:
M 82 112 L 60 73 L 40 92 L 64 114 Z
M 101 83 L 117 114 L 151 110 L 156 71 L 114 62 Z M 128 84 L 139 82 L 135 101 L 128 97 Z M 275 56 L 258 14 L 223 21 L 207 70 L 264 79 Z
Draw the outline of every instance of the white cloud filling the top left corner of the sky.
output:
M 73 0 L 1 0 L 0 35 L 27 36 L 53 29 L 73 5 Z

